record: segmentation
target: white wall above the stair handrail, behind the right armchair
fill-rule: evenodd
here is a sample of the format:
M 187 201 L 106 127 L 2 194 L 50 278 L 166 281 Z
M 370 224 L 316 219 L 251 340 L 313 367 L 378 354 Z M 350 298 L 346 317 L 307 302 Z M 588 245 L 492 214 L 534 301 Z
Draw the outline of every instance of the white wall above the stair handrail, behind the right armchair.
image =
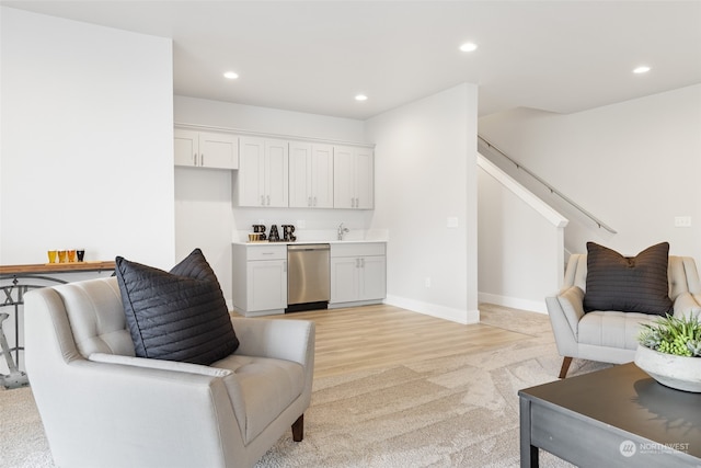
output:
M 623 254 L 669 241 L 701 265 L 701 84 L 570 115 L 516 110 L 480 134 L 618 231 L 565 216 L 565 247 L 593 240 Z M 691 216 L 691 228 L 674 226 Z

